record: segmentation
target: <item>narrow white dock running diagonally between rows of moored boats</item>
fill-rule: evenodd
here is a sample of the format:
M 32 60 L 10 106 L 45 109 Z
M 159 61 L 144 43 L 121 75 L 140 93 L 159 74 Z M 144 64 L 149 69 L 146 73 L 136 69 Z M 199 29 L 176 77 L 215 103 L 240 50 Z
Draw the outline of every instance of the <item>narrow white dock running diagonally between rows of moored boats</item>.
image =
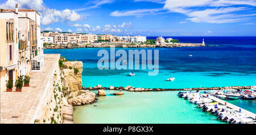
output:
M 213 101 L 216 101 L 216 102 L 218 102 L 218 103 L 221 103 L 221 104 L 225 105 L 225 102 L 226 102 L 226 101 L 223 101 L 223 100 L 221 100 L 221 99 L 219 99 L 219 98 L 213 97 L 212 95 L 209 95 L 209 94 L 201 94 L 201 95 L 203 95 L 204 97 L 207 97 L 207 95 L 208 95 L 207 98 L 210 98 L 210 99 L 212 99 Z M 232 104 L 232 103 L 229 103 L 229 102 L 226 102 L 226 106 L 228 106 L 229 108 L 232 108 L 232 109 L 234 109 L 234 110 L 237 110 L 237 111 L 240 111 L 240 109 L 241 109 L 241 112 L 243 112 L 243 113 L 249 115 L 249 116 L 250 116 L 251 118 L 253 118 L 253 119 L 256 119 L 256 114 L 254 114 L 253 112 L 247 111 L 247 110 L 245 110 L 245 109 L 243 109 L 243 108 L 241 108 L 241 107 L 238 107 L 238 106 L 236 106 L 236 105 L 234 105 L 234 104 Z

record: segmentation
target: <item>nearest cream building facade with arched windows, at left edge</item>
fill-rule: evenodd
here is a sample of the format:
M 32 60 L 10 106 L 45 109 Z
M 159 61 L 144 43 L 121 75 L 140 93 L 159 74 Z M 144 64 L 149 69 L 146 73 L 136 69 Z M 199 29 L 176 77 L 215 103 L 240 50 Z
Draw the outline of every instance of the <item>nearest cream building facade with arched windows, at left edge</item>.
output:
M 18 12 L 0 13 L 0 88 L 6 89 L 6 80 L 18 75 Z

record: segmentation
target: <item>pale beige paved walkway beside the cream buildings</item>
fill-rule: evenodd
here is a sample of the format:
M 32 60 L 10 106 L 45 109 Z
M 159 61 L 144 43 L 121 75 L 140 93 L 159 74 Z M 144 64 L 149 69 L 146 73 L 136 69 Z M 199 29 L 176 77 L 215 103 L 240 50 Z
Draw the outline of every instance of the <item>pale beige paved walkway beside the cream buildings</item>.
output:
M 59 55 L 45 55 L 41 72 L 31 72 L 30 86 L 23 87 L 22 92 L 1 90 L 0 123 L 31 123 L 42 93 L 46 90 L 47 76 L 53 71 L 53 63 L 58 62 Z

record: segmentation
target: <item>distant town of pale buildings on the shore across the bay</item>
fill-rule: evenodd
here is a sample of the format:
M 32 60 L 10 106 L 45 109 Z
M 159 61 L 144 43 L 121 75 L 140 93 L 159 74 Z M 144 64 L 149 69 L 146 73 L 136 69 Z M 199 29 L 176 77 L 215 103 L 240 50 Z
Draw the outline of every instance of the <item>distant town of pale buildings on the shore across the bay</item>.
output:
M 146 36 L 115 36 L 112 34 L 88 34 L 70 32 L 41 32 L 44 49 L 72 49 L 76 47 L 184 47 L 205 46 L 202 43 L 179 43 L 179 40 L 158 37 L 147 40 Z

